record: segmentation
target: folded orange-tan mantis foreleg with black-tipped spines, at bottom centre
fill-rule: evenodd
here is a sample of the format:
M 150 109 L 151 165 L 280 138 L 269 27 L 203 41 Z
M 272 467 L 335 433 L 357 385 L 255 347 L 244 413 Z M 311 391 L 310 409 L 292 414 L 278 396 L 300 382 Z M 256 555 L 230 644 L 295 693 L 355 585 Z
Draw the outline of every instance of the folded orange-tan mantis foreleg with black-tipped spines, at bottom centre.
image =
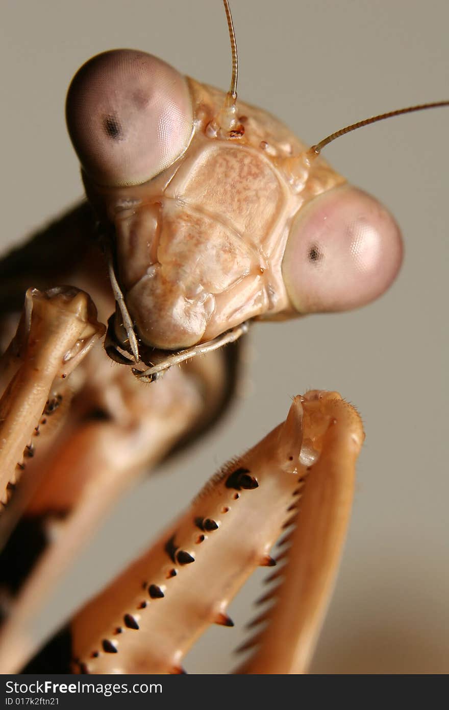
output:
M 272 545 L 294 523 L 292 545 L 277 558 L 288 560 L 275 572 L 281 584 L 262 600 L 279 603 L 257 620 L 267 628 L 245 644 L 259 650 L 240 672 L 304 672 L 333 586 L 362 439 L 360 417 L 336 393 L 296 397 L 282 425 L 224 466 L 74 617 L 59 637 L 66 657 L 55 641 L 28 672 L 41 662 L 63 672 L 70 661 L 75 672 L 182 672 L 182 658 L 211 623 L 233 625 L 228 604 L 255 567 L 276 564 Z

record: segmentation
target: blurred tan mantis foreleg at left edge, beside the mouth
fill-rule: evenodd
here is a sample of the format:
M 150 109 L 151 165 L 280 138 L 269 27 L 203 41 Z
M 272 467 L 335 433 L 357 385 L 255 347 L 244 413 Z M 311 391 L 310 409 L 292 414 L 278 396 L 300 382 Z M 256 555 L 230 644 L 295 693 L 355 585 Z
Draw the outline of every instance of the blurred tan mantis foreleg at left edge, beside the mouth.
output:
M 31 444 L 45 410 L 60 405 L 70 392 L 67 378 L 104 334 L 89 296 L 77 288 L 31 288 L 16 337 L 1 368 L 10 376 L 0 400 L 0 498 L 16 484 L 23 452 Z M 18 366 L 16 366 L 18 362 Z

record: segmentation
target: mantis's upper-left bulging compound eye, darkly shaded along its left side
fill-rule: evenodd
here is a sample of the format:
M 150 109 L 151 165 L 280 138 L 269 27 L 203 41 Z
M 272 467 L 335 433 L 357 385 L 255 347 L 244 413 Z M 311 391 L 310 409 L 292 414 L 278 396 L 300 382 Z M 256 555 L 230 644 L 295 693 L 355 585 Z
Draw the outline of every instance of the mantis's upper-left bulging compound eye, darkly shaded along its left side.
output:
M 187 148 L 192 100 L 177 70 L 153 55 L 112 50 L 74 75 L 67 127 L 84 170 L 99 185 L 139 185 Z

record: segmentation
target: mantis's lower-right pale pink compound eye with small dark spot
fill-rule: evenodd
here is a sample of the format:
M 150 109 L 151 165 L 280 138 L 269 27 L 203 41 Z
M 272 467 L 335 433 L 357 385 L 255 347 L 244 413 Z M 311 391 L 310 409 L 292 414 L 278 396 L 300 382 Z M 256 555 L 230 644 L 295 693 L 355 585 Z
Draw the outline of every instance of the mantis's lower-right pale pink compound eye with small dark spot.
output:
M 282 262 L 287 293 L 301 313 L 364 305 L 394 280 L 402 240 L 387 209 L 344 185 L 299 210 Z

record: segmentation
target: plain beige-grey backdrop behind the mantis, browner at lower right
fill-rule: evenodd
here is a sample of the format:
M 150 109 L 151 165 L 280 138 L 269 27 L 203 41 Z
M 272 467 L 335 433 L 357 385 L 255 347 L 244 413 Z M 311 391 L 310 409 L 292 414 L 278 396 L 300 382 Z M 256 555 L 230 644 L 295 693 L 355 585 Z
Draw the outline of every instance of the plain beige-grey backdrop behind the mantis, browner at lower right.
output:
M 234 0 L 233 14 L 240 96 L 311 143 L 379 111 L 448 97 L 446 0 Z M 218 0 L 4 0 L 2 16 L 4 244 L 81 194 L 63 105 L 90 55 L 140 48 L 199 80 L 228 84 Z M 448 116 L 394 119 L 328 148 L 331 163 L 397 216 L 406 244 L 397 283 L 358 312 L 258 325 L 247 394 L 233 415 L 170 475 L 128 496 L 36 620 L 36 633 L 145 545 L 219 464 L 284 418 L 291 395 L 313 386 L 353 401 L 367 431 L 314 671 L 448 671 Z M 236 622 L 248 618 L 255 594 L 233 603 Z M 212 629 L 187 670 L 233 667 L 239 634 Z

